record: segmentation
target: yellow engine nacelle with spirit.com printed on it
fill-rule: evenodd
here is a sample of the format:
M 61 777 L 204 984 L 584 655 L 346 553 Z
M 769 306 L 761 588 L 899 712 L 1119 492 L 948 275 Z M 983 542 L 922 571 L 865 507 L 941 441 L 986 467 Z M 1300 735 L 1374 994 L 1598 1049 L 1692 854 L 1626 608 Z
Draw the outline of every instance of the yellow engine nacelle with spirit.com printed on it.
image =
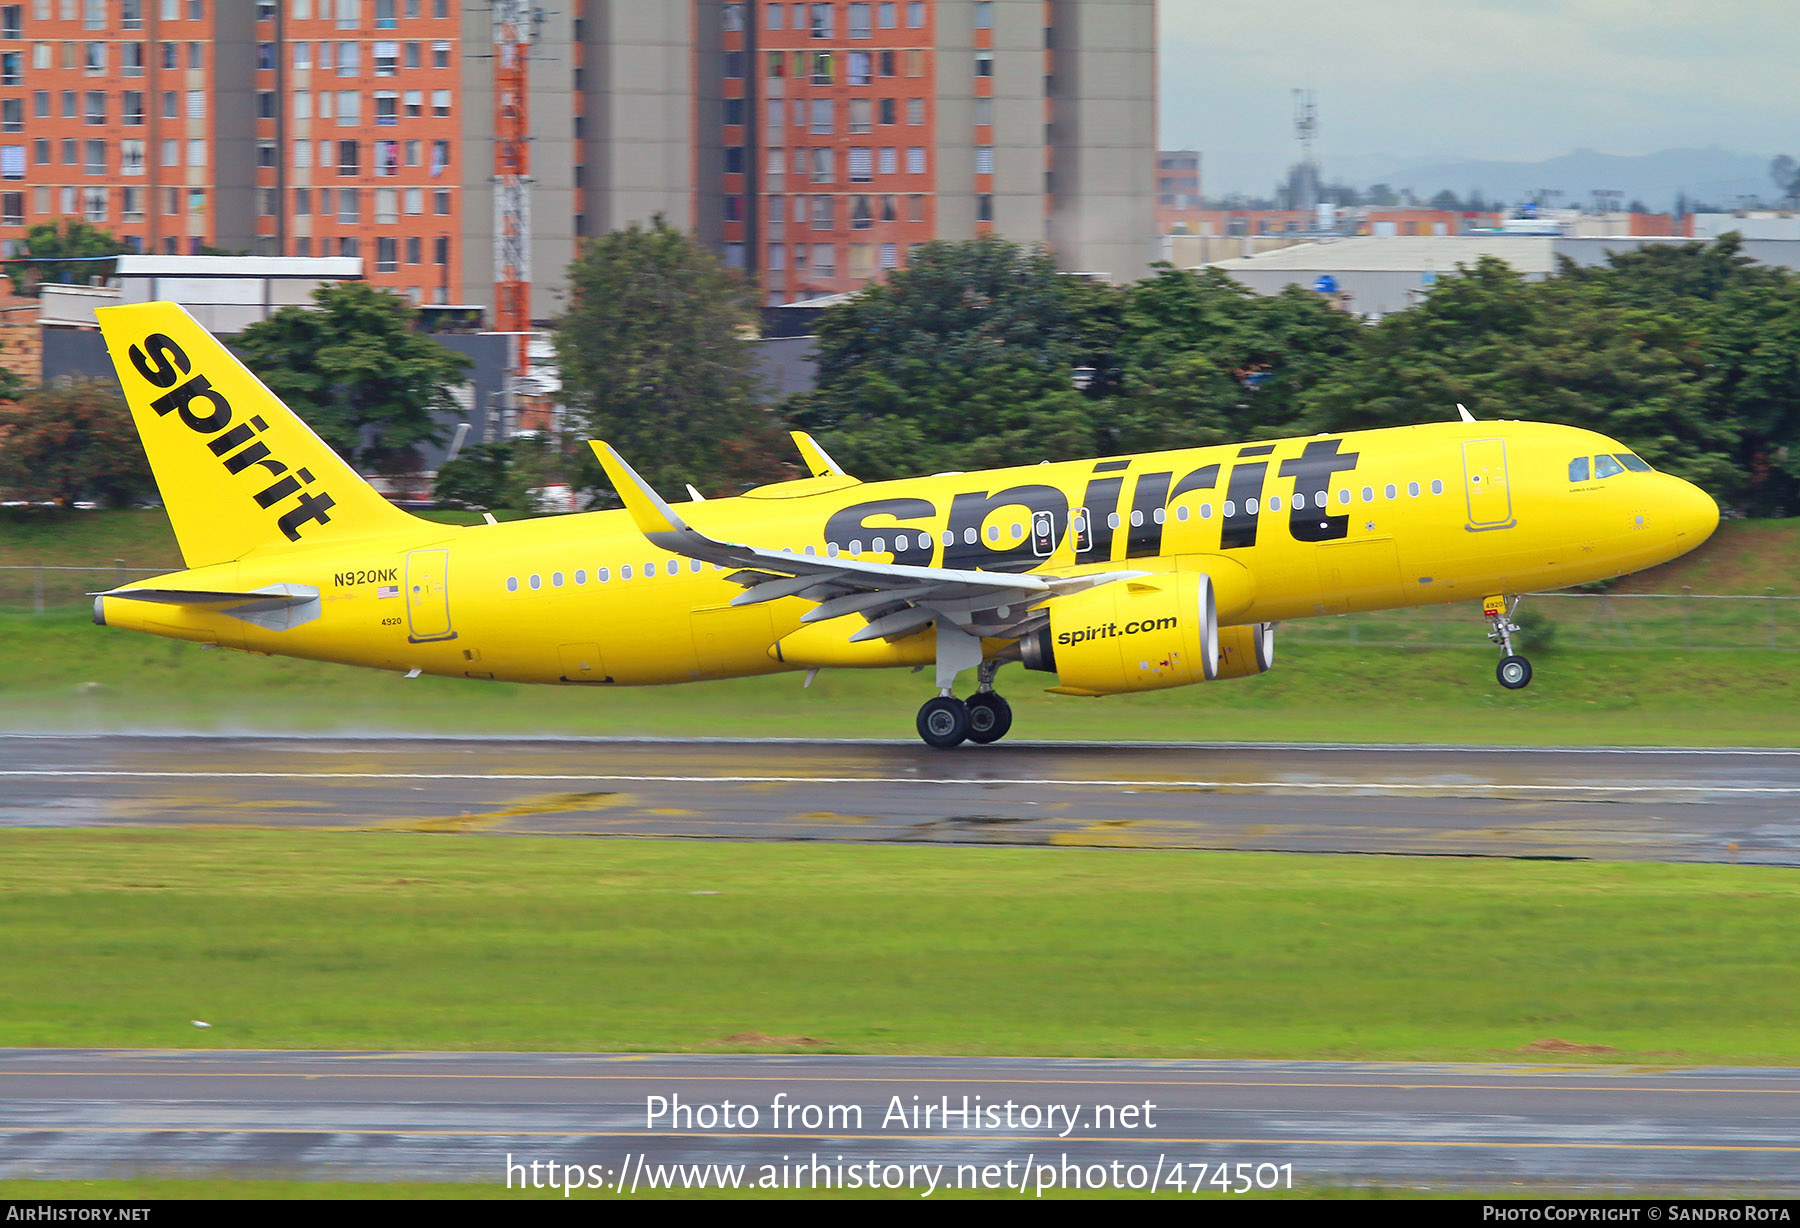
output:
M 1211 576 L 1166 571 L 1049 603 L 1049 627 L 1019 641 L 1028 670 L 1062 679 L 1067 695 L 1121 695 L 1219 675 L 1219 607 Z

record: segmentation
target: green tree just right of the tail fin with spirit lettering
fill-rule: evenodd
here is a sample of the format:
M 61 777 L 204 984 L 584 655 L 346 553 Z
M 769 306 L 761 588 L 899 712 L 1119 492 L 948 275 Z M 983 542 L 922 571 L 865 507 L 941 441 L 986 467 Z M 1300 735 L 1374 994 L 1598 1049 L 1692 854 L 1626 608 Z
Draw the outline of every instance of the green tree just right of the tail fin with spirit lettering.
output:
M 360 281 L 313 292 L 247 328 L 239 357 L 338 456 L 373 472 L 418 468 L 418 445 L 441 443 L 437 414 L 468 358 L 416 331 L 418 310 Z

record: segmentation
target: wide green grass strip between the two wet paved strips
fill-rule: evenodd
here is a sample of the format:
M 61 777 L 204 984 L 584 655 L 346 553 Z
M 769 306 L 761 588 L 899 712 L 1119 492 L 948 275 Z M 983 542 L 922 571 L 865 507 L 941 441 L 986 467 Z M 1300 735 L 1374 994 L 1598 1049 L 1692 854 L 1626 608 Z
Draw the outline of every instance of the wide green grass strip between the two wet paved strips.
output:
M 1793 870 L 252 830 L 0 864 L 0 1046 L 1800 1062 Z

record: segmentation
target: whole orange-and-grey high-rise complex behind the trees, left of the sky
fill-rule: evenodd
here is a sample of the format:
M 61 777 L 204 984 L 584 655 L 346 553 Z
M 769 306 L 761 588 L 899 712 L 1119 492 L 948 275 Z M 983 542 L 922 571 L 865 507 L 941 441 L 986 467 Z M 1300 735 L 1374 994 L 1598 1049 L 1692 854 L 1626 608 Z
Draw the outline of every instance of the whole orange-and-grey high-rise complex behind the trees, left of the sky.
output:
M 583 236 L 666 218 L 770 302 L 931 238 L 1156 257 L 1156 0 L 527 5 L 533 319 Z M 131 250 L 360 256 L 491 302 L 493 5 L 0 4 L 0 247 L 81 218 Z

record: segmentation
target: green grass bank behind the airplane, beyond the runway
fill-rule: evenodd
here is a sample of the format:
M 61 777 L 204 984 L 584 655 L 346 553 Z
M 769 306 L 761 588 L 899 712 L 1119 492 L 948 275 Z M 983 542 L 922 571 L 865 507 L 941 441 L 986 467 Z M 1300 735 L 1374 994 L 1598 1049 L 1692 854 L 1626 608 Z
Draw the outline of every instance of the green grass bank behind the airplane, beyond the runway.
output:
M 473 520 L 473 513 L 434 513 Z M 346 666 L 203 652 L 94 627 L 81 594 L 128 567 L 176 567 L 160 511 L 0 511 L 0 729 L 380 731 L 911 736 L 929 681 L 826 672 L 596 691 L 448 679 L 400 681 Z M 1732 520 L 1699 551 L 1616 591 L 1800 592 L 1800 519 Z M 1062 740 L 1366 740 L 1501 744 L 1793 745 L 1800 715 L 1800 601 L 1544 598 L 1555 623 L 1530 648 L 1525 691 L 1494 684 L 1494 652 L 1469 607 L 1287 623 L 1273 673 L 1156 695 L 1044 695 L 1048 675 L 1008 666 L 1017 736 Z M 1454 646 L 1438 646 L 1454 645 Z M 1784 648 L 1784 650 L 1771 650 Z

